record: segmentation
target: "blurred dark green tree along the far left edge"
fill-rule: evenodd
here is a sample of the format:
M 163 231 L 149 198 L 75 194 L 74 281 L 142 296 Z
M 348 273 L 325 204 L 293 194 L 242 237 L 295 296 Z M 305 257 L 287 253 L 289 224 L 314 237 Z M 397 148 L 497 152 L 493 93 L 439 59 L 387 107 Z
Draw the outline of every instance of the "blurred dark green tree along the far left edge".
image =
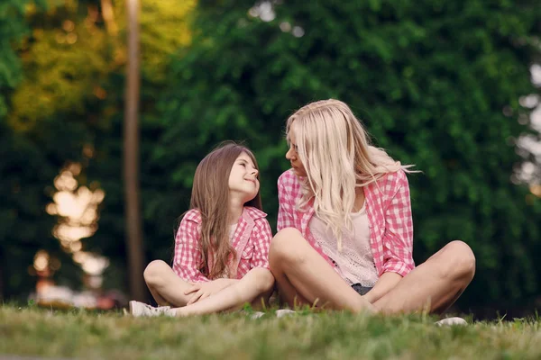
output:
M 54 151 L 44 151 L 51 148 L 45 137 L 25 133 L 9 121 L 12 94 L 23 81 L 19 48 L 30 31 L 25 13 L 44 5 L 19 0 L 0 4 L 0 299 L 32 290 L 29 271 L 39 249 L 64 257 L 51 235 L 54 219 L 45 212 L 59 159 Z

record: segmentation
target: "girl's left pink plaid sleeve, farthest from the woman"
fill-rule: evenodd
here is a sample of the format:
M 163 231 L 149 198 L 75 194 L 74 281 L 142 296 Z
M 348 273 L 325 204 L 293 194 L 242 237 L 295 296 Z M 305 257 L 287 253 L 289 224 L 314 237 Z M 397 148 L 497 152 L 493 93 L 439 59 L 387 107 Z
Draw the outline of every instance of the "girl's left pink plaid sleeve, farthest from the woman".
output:
M 173 259 L 173 271 L 180 278 L 190 283 L 201 283 L 209 281 L 199 271 L 202 261 L 199 251 L 198 224 L 192 220 L 183 219 L 180 221 L 179 230 L 175 238 L 175 257 Z

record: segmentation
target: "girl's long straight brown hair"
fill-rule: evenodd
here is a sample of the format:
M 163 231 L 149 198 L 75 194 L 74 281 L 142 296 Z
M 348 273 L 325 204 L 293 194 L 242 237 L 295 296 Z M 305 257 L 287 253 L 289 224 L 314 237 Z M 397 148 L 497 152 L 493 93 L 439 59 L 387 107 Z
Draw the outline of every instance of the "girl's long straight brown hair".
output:
M 259 170 L 249 148 L 225 141 L 201 160 L 194 175 L 189 207 L 201 213 L 199 251 L 202 262 L 199 269 L 210 279 L 223 275 L 230 259 L 234 261 L 237 256 L 229 241 L 229 175 L 234 161 L 242 153 L 248 155 Z M 260 192 L 244 206 L 262 210 Z M 212 264 L 209 264 L 210 254 Z

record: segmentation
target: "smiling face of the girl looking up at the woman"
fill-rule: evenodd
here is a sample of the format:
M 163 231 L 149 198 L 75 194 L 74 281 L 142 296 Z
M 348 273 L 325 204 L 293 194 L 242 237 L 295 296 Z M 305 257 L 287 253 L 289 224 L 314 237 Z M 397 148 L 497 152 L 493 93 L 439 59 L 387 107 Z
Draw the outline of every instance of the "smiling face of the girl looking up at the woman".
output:
M 259 188 L 259 171 L 252 158 L 243 152 L 231 167 L 229 193 L 234 197 L 240 196 L 242 202 L 249 202 L 257 195 Z

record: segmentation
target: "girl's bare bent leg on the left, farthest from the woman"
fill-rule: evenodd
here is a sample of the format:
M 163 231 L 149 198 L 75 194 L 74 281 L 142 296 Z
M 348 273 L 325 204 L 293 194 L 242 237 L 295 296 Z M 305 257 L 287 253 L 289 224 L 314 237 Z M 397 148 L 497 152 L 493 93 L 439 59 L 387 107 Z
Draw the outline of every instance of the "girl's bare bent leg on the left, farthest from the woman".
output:
M 144 270 L 144 280 L 159 305 L 184 306 L 190 299 L 185 295 L 190 284 L 179 278 L 173 269 L 161 260 L 154 260 Z

